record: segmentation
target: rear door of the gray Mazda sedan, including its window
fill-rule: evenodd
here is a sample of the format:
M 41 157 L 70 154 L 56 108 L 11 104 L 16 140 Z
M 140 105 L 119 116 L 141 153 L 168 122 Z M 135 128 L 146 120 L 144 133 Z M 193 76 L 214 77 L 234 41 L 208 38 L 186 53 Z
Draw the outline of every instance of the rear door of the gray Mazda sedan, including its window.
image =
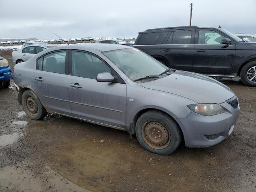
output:
M 33 80 L 46 109 L 71 116 L 67 89 L 66 50 L 52 52 L 37 60 Z

